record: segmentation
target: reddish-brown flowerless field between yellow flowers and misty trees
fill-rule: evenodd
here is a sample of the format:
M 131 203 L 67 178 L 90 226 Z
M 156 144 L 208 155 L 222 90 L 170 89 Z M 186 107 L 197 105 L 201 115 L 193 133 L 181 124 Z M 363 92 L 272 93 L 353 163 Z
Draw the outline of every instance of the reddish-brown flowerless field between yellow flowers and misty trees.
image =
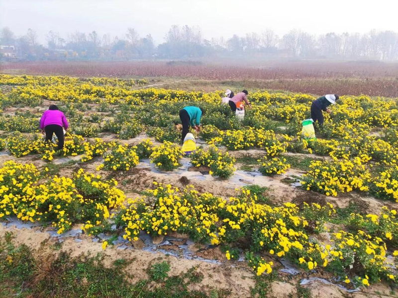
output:
M 164 87 L 208 90 L 225 85 L 312 94 L 398 96 L 398 63 L 331 61 L 201 62 L 18 62 L 1 73 L 154 78 Z M 173 79 L 172 79 L 173 78 Z M 180 82 L 184 81 L 184 82 Z M 189 82 L 188 82 L 189 81 Z M 211 82 L 210 82 L 211 81 Z

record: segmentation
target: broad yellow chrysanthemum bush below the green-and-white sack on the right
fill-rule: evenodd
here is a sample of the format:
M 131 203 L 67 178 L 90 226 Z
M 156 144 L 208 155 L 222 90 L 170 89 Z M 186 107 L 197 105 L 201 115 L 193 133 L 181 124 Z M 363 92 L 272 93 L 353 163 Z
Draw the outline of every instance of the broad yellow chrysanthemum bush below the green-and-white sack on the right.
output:
M 360 158 L 339 161 L 312 161 L 302 176 L 301 184 L 307 190 L 315 190 L 327 196 L 354 189 L 368 191 L 371 175 Z

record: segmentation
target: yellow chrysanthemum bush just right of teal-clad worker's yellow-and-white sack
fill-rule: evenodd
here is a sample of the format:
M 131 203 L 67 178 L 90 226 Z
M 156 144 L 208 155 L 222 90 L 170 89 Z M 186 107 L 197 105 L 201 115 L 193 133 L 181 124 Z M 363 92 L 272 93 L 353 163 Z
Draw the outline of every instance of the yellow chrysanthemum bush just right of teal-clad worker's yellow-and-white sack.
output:
M 198 149 L 191 154 L 191 162 L 194 166 L 207 166 L 210 168 L 210 175 L 229 178 L 235 171 L 235 158 L 228 152 L 221 151 L 213 145 L 207 150 Z

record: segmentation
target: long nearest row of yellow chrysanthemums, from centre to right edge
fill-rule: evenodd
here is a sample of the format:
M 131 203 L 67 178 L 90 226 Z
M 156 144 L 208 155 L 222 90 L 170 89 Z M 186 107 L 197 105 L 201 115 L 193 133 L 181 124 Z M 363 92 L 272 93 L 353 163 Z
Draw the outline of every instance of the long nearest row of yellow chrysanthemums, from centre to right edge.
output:
M 210 241 L 214 245 L 244 241 L 249 247 L 246 259 L 257 275 L 272 272 L 272 264 L 257 254 L 262 252 L 289 258 L 305 271 L 322 268 L 353 287 L 382 279 L 397 282 L 394 268 L 386 264 L 392 252 L 373 233 L 339 231 L 333 234 L 332 244 L 309 237 L 308 232 L 323 231 L 324 223 L 334 217 L 336 212 L 331 204 L 312 204 L 300 211 L 292 203 L 279 207 L 259 204 L 250 190 L 242 190 L 240 197 L 225 200 L 199 193 L 192 186 L 180 190 L 171 185 L 155 185 L 155 189 L 147 192 L 154 201 L 147 204 L 145 198 L 131 200 L 118 216 L 124 238 L 137 240 L 144 231 L 154 236 L 186 233 L 196 241 Z M 379 216 L 385 219 L 385 213 Z M 389 216 L 395 216 L 394 213 L 390 211 Z M 226 252 L 228 256 L 230 251 Z

